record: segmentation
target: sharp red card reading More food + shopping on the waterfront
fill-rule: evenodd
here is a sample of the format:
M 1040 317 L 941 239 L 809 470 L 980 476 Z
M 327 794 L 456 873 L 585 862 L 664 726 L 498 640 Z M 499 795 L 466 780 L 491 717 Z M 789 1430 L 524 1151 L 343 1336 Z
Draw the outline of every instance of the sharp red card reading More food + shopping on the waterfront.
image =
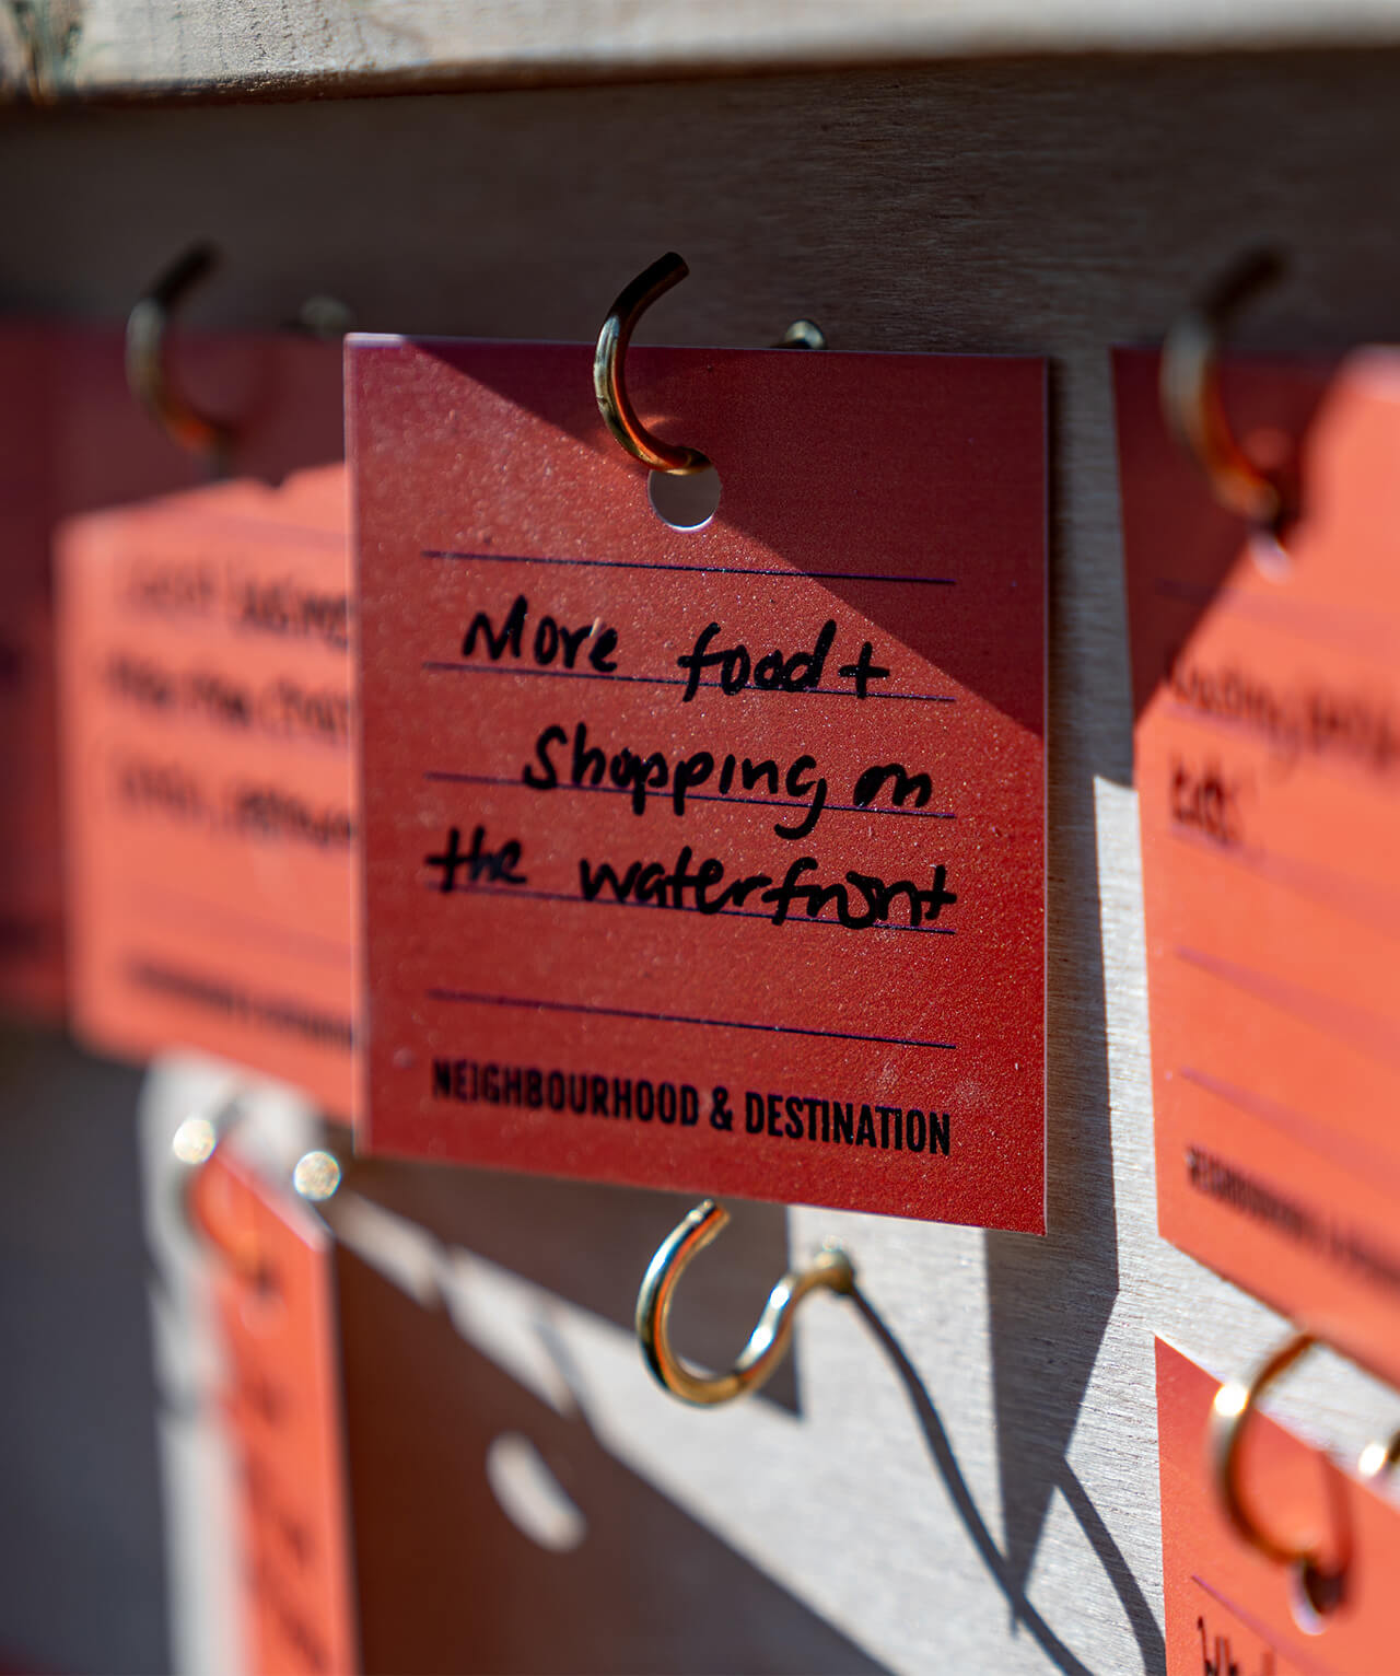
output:
M 1042 1230 L 1043 364 L 589 369 L 348 347 L 367 1145 Z

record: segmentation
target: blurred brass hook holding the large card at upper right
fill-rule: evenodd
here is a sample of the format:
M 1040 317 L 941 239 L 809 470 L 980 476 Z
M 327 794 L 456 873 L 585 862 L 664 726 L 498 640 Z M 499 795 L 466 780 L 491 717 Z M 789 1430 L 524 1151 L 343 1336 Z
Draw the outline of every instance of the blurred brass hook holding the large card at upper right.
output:
M 1261 471 L 1231 429 L 1221 397 L 1219 350 L 1241 303 L 1283 273 L 1271 250 L 1222 275 L 1167 332 L 1162 345 L 1162 412 L 1177 442 L 1206 474 L 1216 499 L 1278 536 L 1294 516 L 1283 484 Z

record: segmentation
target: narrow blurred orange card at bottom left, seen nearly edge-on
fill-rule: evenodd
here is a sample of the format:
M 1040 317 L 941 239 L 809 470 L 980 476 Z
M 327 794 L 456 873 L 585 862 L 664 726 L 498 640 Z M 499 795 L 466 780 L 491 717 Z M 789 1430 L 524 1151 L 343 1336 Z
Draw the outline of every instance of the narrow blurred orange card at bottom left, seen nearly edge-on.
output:
M 332 1235 L 226 1151 L 194 1192 L 218 1247 L 250 1671 L 348 1676 L 358 1658 Z

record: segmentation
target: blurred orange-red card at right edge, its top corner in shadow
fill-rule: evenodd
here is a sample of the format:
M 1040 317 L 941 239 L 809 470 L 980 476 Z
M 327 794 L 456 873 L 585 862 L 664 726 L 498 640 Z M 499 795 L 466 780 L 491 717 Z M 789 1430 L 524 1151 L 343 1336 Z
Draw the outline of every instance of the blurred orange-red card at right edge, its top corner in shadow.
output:
M 1161 1229 L 1400 1379 L 1400 355 L 1231 369 L 1283 563 L 1115 372 Z

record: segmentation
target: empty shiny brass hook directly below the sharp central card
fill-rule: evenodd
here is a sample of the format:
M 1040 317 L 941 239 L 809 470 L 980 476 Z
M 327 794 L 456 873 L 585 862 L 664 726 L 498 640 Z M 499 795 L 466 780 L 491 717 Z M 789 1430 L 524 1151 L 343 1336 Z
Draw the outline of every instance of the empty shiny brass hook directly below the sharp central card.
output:
M 672 1296 L 695 1254 L 702 1252 L 727 1222 L 728 1212 L 712 1198 L 697 1205 L 660 1245 L 636 1296 L 636 1337 L 646 1366 L 672 1396 L 700 1408 L 732 1403 L 737 1396 L 759 1389 L 787 1354 L 792 1312 L 809 1292 L 824 1287 L 849 1297 L 856 1291 L 856 1269 L 846 1252 L 836 1247 L 817 1252 L 811 1269 L 790 1270 L 772 1289 L 759 1324 L 733 1368 L 722 1374 L 697 1373 L 670 1344 Z

